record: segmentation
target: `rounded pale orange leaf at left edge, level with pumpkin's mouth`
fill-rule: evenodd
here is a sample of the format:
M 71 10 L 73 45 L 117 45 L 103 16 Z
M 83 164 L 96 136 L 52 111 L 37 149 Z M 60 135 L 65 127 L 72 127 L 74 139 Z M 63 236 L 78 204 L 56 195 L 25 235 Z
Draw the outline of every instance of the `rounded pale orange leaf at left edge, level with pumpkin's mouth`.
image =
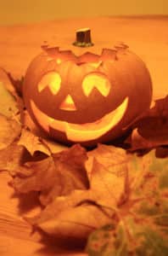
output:
M 0 114 L 0 150 L 8 147 L 20 136 L 21 126 L 13 119 Z

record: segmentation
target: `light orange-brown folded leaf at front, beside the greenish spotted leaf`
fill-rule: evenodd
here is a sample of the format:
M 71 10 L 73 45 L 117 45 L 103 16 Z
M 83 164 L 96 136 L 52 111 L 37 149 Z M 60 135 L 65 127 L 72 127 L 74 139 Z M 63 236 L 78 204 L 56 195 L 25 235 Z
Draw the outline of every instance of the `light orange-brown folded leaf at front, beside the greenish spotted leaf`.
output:
M 111 208 L 98 207 L 90 192 L 75 190 L 70 195 L 59 196 L 40 215 L 27 220 L 56 238 L 70 238 L 76 243 L 86 240 L 92 230 L 110 222 L 114 212 Z

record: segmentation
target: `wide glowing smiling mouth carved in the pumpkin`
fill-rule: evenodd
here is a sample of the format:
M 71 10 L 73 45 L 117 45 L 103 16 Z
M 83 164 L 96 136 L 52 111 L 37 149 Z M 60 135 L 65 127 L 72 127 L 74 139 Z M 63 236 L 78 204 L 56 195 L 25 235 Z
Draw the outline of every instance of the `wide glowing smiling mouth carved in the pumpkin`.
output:
M 62 131 L 66 134 L 67 139 L 72 142 L 87 142 L 102 137 L 120 122 L 126 113 L 127 105 L 128 97 L 126 97 L 118 108 L 107 113 L 96 122 L 76 125 L 49 117 L 47 114 L 42 113 L 42 111 L 36 107 L 35 102 L 31 100 L 32 112 L 42 129 L 48 133 L 50 128 L 56 131 Z

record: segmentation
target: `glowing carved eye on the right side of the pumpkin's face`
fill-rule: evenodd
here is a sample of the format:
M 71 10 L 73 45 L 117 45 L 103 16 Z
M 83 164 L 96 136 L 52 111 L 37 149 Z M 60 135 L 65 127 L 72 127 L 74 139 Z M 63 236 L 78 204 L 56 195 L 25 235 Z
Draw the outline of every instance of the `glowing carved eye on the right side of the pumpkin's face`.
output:
M 85 96 L 89 96 L 93 88 L 97 88 L 97 90 L 106 97 L 109 95 L 111 84 L 104 74 L 90 73 L 82 82 L 82 89 Z

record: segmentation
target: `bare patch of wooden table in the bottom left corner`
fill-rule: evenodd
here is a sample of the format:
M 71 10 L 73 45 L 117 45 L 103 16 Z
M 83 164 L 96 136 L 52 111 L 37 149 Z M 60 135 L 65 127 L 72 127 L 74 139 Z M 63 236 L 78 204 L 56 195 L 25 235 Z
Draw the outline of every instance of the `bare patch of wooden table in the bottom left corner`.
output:
M 8 183 L 11 177 L 0 172 L 0 255 L 1 256 L 84 256 L 85 253 L 71 252 L 54 245 L 54 241 L 39 233 L 32 233 L 22 217 L 27 212 L 37 211 L 35 196 L 24 196 L 18 200 Z M 33 209 L 33 211 L 32 211 Z M 31 212 L 31 213 L 30 213 Z

